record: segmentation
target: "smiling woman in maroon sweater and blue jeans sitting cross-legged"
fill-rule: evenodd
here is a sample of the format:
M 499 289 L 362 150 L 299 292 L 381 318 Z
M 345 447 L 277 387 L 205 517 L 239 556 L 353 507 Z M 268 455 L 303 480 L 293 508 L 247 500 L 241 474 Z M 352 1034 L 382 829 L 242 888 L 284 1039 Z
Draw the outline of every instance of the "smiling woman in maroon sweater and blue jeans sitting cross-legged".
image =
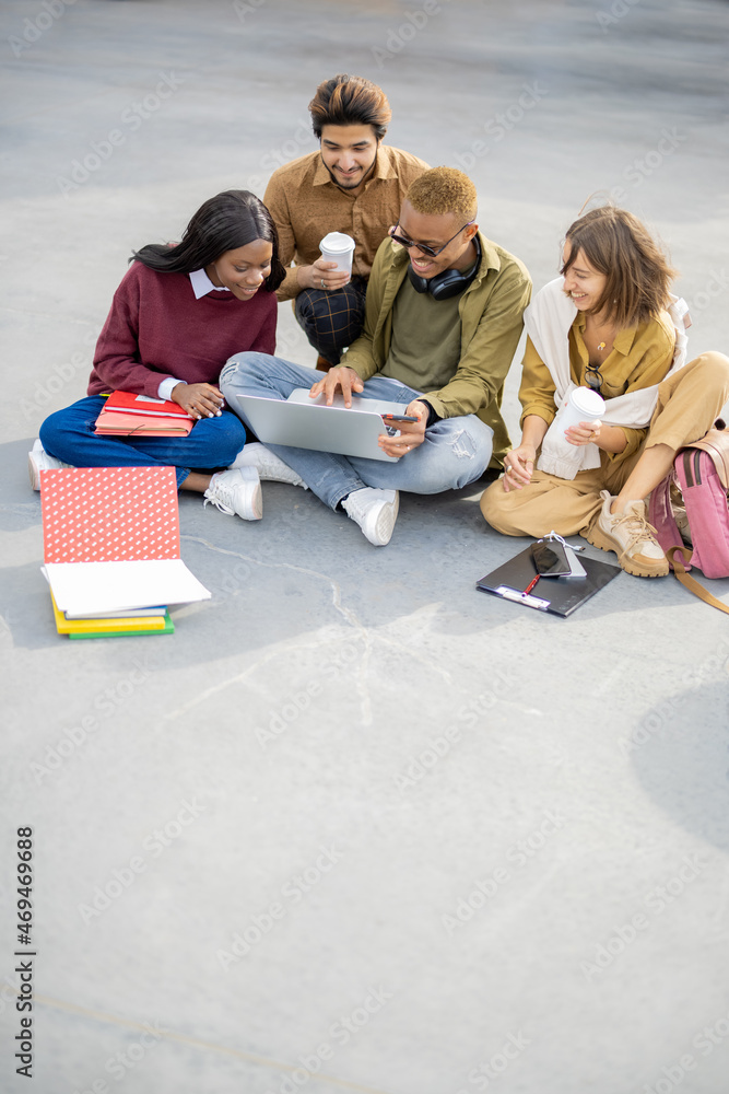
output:
M 181 490 L 203 493 L 226 513 L 260 520 L 254 467 L 226 468 L 245 444 L 239 418 L 224 409 L 221 369 L 242 350 L 273 353 L 275 290 L 284 278 L 277 230 L 247 190 L 226 190 L 198 209 L 176 246 L 150 244 L 114 294 L 86 398 L 50 415 L 30 455 L 39 472 L 72 467 L 173 466 Z M 188 437 L 119 438 L 94 433 L 114 391 L 173 399 L 197 419 Z

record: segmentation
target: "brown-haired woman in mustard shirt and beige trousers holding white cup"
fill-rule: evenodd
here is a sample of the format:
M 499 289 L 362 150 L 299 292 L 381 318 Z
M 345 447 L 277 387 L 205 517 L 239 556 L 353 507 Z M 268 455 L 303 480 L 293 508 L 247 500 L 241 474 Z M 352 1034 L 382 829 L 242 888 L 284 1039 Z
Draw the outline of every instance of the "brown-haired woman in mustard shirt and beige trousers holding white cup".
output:
M 561 277 L 525 313 L 521 441 L 481 511 L 506 535 L 579 533 L 628 573 L 663 575 L 645 499 L 720 415 L 729 360 L 709 352 L 684 363 L 675 270 L 631 213 L 604 206 L 580 217 L 562 259 Z M 598 392 L 604 411 L 564 430 L 558 408 L 574 387 Z

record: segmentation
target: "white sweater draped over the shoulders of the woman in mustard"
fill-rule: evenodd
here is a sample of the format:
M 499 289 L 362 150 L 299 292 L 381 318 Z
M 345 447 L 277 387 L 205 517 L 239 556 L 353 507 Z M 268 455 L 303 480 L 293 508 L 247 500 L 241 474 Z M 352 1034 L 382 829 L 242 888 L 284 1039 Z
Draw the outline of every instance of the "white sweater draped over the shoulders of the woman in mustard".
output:
M 600 466 L 600 450 L 592 443 L 569 444 L 561 427 L 566 400 L 577 386 L 569 376 L 569 328 L 575 322 L 577 309 L 563 291 L 563 284 L 564 278 L 558 277 L 537 293 L 524 313 L 524 325 L 554 381 L 554 401 L 557 406 L 554 420 L 542 441 L 537 466 L 558 478 L 574 479 L 578 472 Z M 667 376 L 678 372 L 686 363 L 689 341 L 684 328 L 687 304 L 678 296 L 671 296 L 671 301 L 668 311 L 675 327 L 675 350 L 673 364 L 666 373 Z M 605 401 L 605 410 L 600 420 L 611 426 L 645 428 L 656 409 L 657 399 L 658 384 L 619 395 Z

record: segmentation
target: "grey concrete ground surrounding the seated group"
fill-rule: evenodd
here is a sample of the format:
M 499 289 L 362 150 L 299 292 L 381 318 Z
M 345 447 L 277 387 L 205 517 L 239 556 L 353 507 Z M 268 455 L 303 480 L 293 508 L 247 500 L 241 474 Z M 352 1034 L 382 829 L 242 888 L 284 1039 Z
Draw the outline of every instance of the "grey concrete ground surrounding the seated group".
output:
M 268 484 L 259 524 L 181 499 L 213 596 L 173 638 L 70 642 L 25 458 L 132 247 L 262 195 L 338 71 L 386 89 L 393 144 L 470 171 L 538 287 L 612 193 L 670 247 L 692 353 L 726 350 L 727 4 L 0 8 L 3 1092 L 724 1094 L 726 617 L 672 577 L 567 620 L 477 593 L 524 546 L 481 486 L 403 497 L 375 549 Z M 311 363 L 287 305 L 279 346 Z

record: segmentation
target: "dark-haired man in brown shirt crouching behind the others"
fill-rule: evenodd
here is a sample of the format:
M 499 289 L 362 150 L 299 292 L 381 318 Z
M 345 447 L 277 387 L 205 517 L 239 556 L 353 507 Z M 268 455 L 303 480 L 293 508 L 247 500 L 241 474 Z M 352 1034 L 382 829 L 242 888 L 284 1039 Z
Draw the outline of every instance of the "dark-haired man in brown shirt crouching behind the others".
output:
M 410 184 L 427 164 L 383 144 L 392 116 L 385 93 L 362 77 L 336 75 L 309 103 L 318 152 L 275 171 L 263 202 L 279 231 L 287 269 L 279 300 L 295 299 L 295 314 L 319 353 L 319 368 L 338 364 L 362 331 L 365 293 L 377 247 L 396 223 Z M 352 277 L 325 261 L 329 232 L 354 240 Z

